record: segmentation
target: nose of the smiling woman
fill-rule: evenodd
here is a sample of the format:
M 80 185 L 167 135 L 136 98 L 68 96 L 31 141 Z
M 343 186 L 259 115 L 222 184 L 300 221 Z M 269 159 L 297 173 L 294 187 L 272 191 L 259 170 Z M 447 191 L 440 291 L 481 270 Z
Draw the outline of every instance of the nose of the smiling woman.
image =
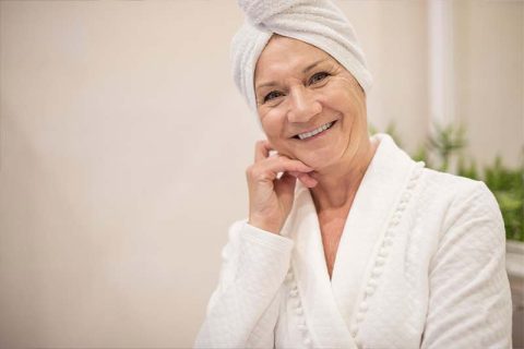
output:
M 322 105 L 314 93 L 305 86 L 296 86 L 290 92 L 290 106 L 287 112 L 289 122 L 307 122 L 322 111 Z

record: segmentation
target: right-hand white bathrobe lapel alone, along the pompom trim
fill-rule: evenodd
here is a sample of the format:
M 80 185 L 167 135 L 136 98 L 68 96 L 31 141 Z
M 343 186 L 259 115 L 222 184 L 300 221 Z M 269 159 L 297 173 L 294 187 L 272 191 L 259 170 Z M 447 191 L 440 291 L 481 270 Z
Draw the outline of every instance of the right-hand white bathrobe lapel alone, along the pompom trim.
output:
M 350 332 L 370 269 L 384 233 L 417 164 L 389 135 L 379 134 L 379 148 L 366 171 L 338 243 L 332 276 L 333 296 Z

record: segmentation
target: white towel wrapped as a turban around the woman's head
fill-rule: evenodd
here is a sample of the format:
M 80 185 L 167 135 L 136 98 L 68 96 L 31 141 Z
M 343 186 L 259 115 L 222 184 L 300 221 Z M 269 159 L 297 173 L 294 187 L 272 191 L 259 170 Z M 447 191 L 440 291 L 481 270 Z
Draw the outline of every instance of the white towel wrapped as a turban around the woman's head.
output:
M 254 69 L 273 33 L 311 44 L 330 53 L 364 91 L 372 77 L 355 31 L 330 0 L 239 0 L 247 21 L 231 43 L 233 76 L 248 105 L 257 110 Z

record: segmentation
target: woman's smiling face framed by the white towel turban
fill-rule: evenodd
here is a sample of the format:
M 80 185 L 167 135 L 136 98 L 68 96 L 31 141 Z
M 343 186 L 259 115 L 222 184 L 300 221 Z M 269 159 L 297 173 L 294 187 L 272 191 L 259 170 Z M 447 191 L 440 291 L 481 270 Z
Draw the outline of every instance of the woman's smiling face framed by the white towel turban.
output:
M 273 36 L 257 63 L 254 87 L 262 128 L 281 155 L 320 170 L 353 158 L 368 140 L 362 89 L 314 46 Z

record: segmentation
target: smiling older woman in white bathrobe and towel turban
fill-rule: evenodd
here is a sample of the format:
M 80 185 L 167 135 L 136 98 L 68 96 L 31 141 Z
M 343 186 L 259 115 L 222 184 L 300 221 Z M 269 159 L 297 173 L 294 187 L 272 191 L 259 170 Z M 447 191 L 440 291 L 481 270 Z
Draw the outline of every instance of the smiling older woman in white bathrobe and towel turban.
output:
M 486 185 L 369 137 L 371 75 L 334 4 L 240 4 L 235 79 L 267 140 L 195 347 L 510 348 L 504 228 Z

